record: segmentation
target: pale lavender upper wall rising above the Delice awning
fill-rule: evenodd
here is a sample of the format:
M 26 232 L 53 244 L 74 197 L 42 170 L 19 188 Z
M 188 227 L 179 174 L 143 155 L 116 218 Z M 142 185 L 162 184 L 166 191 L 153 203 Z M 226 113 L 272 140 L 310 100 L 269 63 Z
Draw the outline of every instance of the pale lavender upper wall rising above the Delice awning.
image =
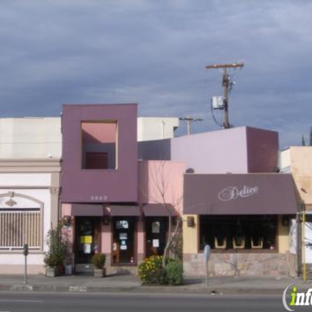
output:
M 247 173 L 246 128 L 174 138 L 171 159 L 185 161 L 195 173 Z

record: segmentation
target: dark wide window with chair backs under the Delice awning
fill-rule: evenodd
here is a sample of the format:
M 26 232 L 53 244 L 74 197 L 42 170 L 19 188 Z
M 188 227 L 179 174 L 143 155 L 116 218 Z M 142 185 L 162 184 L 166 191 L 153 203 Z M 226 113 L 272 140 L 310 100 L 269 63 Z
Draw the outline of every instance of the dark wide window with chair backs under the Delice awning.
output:
M 277 216 L 200 216 L 200 249 L 275 250 Z

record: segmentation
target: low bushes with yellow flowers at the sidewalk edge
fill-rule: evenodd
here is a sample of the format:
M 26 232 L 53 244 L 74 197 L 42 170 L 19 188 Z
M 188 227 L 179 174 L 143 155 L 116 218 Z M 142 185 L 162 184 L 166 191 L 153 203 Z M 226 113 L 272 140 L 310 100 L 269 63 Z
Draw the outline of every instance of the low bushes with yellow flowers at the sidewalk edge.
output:
M 180 261 L 168 259 L 163 268 L 162 256 L 151 256 L 139 265 L 138 276 L 143 284 L 181 285 L 183 267 Z

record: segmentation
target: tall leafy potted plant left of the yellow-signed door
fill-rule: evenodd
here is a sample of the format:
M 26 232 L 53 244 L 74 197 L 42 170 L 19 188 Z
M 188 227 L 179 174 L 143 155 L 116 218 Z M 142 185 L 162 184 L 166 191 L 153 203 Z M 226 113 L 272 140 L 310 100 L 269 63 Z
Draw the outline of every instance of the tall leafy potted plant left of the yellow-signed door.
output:
M 67 244 L 62 235 L 62 225 L 48 231 L 47 244 L 49 251 L 45 254 L 44 263 L 47 267 L 47 276 L 58 276 L 64 273 L 64 260 L 67 252 Z

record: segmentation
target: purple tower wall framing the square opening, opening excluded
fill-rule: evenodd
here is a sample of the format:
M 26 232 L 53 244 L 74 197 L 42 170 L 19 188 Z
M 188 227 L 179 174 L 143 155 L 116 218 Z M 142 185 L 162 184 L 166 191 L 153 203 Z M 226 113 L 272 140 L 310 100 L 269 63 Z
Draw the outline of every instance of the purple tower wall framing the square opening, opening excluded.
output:
M 102 120 L 118 122 L 118 169 L 81 169 L 81 121 Z M 63 106 L 62 202 L 137 202 L 136 123 L 137 104 Z

